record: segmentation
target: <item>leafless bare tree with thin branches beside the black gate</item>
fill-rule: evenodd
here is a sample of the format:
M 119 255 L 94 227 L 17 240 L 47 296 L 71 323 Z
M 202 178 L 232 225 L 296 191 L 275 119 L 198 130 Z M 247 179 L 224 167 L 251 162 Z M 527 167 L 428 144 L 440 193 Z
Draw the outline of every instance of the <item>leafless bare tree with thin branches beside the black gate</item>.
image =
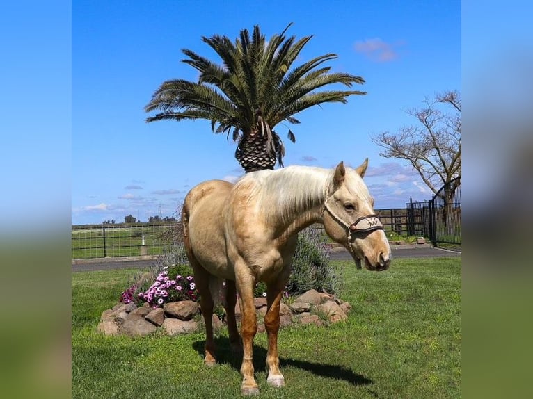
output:
M 441 186 L 461 177 L 461 93 L 454 90 L 426 98 L 422 108 L 406 113 L 418 123 L 395 134 L 379 133 L 372 141 L 383 148 L 381 156 L 411 163 L 436 194 Z

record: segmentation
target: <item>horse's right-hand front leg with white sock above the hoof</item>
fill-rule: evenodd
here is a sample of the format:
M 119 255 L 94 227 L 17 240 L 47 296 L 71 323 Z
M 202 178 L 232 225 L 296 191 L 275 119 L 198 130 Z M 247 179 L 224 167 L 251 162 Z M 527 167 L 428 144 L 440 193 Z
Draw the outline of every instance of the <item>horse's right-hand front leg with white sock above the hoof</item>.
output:
M 278 280 L 267 285 L 266 301 L 267 311 L 264 316 L 264 327 L 268 334 L 269 351 L 266 354 L 266 368 L 269 377 L 266 382 L 273 386 L 284 386 L 285 378 L 280 372 L 280 359 L 278 355 L 278 331 L 280 329 L 280 302 L 283 288 L 287 284 L 288 275 L 280 275 Z

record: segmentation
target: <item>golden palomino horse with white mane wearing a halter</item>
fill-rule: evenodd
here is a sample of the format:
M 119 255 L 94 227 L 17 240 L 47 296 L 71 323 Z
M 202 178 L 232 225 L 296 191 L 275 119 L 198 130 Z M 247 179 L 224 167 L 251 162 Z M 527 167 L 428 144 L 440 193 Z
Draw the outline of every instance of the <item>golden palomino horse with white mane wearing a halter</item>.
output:
M 391 252 L 374 201 L 363 183 L 368 160 L 356 169 L 289 166 L 251 172 L 237 184 L 205 181 L 187 194 L 182 210 L 184 244 L 194 270 L 205 319 L 205 364 L 216 363 L 212 315 L 214 287 L 225 279 L 225 311 L 232 348 L 241 348 L 235 323 L 236 293 L 241 308 L 243 394 L 258 393 L 253 376 L 257 319 L 253 291 L 266 284 L 267 382 L 285 385 L 278 358 L 280 300 L 291 271 L 297 234 L 312 223 L 349 250 L 356 266 L 386 270 Z M 217 285 L 218 284 L 218 285 Z

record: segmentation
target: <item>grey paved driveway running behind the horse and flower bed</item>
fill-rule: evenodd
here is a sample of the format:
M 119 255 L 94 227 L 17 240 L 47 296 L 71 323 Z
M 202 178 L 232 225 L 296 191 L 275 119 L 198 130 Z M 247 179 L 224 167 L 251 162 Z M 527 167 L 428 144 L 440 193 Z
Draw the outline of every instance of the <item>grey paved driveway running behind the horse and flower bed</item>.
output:
M 461 252 L 443 250 L 429 245 L 396 245 L 392 246 L 392 259 L 395 258 L 437 258 L 461 257 Z M 138 257 L 140 258 L 140 257 Z M 79 259 L 73 261 L 72 272 L 90 272 L 95 270 L 144 269 L 154 264 L 155 259 L 138 258 L 109 258 L 109 259 Z M 344 248 L 335 248 L 330 253 L 330 259 L 335 261 L 351 260 L 351 256 Z

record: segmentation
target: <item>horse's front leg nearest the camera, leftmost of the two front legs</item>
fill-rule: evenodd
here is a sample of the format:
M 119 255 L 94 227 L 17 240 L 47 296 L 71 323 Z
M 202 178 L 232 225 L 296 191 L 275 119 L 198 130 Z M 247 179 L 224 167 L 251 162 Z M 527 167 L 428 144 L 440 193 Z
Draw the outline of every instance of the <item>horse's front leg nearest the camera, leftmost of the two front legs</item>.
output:
M 259 393 L 259 388 L 253 377 L 253 339 L 257 333 L 257 316 L 253 304 L 255 279 L 247 269 L 243 269 L 241 272 L 235 273 L 241 307 L 241 336 L 243 344 L 241 393 L 243 395 L 253 395 Z

